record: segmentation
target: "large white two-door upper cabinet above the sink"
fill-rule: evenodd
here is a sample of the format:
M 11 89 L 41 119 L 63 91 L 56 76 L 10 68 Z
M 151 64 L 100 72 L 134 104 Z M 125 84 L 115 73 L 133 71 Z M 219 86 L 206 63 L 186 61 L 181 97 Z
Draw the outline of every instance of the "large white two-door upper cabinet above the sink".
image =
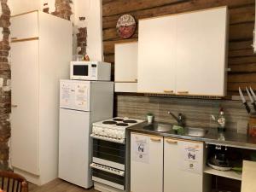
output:
M 139 21 L 138 92 L 225 96 L 227 8 Z

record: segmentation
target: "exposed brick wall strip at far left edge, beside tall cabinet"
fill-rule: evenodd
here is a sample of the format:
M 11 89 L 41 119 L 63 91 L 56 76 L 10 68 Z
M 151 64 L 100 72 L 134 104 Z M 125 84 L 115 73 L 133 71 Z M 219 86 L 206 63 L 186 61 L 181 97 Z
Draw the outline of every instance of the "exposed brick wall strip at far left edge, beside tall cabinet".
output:
M 7 0 L 0 0 L 3 14 L 0 16 L 0 170 L 8 169 L 10 137 L 10 68 L 9 68 L 9 26 L 10 10 Z

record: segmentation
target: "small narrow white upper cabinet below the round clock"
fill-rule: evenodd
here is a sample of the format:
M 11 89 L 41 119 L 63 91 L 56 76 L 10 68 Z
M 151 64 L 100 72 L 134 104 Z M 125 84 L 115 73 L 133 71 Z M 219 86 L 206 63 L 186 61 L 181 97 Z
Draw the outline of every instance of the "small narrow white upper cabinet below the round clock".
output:
M 115 44 L 114 82 L 116 92 L 137 92 L 137 42 Z

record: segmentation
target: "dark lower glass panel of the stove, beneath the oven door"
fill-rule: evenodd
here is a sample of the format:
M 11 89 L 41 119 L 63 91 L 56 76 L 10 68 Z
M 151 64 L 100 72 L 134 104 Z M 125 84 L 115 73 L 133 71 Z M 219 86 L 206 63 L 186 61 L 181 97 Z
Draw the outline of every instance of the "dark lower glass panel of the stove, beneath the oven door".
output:
M 110 172 L 104 172 L 98 169 L 92 169 L 92 175 L 94 177 L 99 177 L 109 182 L 118 183 L 120 185 L 125 186 L 125 177 L 121 177 Z

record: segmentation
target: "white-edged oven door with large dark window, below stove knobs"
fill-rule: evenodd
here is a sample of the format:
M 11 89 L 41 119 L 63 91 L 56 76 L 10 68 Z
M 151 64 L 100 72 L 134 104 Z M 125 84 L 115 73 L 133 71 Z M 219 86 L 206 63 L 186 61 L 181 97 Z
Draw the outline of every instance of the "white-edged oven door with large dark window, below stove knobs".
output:
M 125 171 L 125 144 L 93 138 L 92 161 Z

